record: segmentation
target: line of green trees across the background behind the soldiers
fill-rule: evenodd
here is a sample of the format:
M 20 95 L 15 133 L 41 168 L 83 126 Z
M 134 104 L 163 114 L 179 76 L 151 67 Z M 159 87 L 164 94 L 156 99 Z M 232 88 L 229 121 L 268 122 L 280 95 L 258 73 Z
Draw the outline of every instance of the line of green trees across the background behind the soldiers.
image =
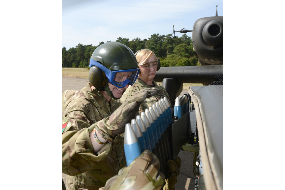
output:
M 110 42 L 110 41 L 107 41 Z M 139 37 L 129 41 L 129 38 L 118 37 L 116 42 L 128 46 L 134 53 L 140 49 L 150 49 L 160 58 L 161 66 L 195 66 L 198 58 L 193 50 L 192 38 L 183 34 L 182 37 L 172 38 L 172 34 L 153 34 L 148 39 L 141 40 Z M 100 42 L 99 45 L 104 44 Z M 88 68 L 90 58 L 94 50 L 99 46 L 78 44 L 66 50 L 62 48 L 61 66 Z

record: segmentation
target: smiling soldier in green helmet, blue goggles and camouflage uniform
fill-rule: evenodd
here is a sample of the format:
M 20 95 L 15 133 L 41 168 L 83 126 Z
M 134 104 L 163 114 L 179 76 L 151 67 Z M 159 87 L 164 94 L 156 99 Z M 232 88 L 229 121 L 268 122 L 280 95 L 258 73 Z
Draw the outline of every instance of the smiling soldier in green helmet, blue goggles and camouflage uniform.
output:
M 62 95 L 62 172 L 66 189 L 99 189 L 126 166 L 123 132 L 141 102 L 157 94 L 148 88 L 123 104 L 117 99 L 137 79 L 134 53 L 118 42 L 96 48 L 89 82 Z

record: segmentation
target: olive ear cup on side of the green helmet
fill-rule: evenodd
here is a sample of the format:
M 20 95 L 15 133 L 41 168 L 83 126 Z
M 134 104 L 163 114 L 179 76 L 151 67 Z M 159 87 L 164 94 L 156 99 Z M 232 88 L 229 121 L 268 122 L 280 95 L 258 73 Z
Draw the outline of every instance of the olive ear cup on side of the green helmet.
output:
M 96 66 L 90 68 L 88 79 L 89 83 L 94 87 L 103 86 L 106 82 L 105 73 Z

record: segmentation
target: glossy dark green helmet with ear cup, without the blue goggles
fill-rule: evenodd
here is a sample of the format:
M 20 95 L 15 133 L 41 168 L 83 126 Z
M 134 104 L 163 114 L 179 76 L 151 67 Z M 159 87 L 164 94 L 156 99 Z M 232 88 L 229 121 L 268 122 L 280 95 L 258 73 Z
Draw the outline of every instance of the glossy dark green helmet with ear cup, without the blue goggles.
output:
M 110 71 L 136 69 L 137 59 L 132 50 L 119 42 L 106 42 L 97 47 L 92 53 L 91 59 L 99 62 Z M 89 65 L 89 82 L 94 87 L 107 85 L 105 72 L 91 64 Z

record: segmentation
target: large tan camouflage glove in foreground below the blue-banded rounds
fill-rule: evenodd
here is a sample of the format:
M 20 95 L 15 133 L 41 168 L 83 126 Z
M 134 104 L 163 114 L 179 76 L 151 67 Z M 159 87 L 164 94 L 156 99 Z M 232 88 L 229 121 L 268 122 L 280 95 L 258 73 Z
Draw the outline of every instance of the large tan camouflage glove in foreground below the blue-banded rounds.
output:
M 159 159 L 151 151 L 145 150 L 128 167 L 122 168 L 118 175 L 110 178 L 104 190 L 159 190 L 164 180 L 164 175 L 159 171 Z

